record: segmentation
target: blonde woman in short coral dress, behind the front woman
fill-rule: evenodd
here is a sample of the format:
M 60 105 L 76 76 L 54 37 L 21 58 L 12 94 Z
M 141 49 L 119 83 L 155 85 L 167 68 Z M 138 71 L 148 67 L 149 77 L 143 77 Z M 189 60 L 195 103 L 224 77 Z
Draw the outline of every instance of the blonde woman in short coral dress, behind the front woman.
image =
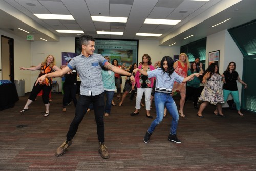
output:
M 188 61 L 188 57 L 187 54 L 185 53 L 181 53 L 179 55 L 179 60 L 177 60 L 174 63 L 174 71 L 182 76 L 182 77 L 187 77 L 187 71 L 189 69 L 189 61 Z M 174 83 L 174 87 L 173 87 L 173 93 L 172 96 L 174 96 L 174 92 L 178 91 L 180 93 L 181 99 L 180 99 L 180 110 L 179 110 L 179 115 L 181 117 L 185 117 L 184 113 L 183 113 L 183 107 L 184 107 L 184 103 L 185 103 L 185 99 L 186 99 L 186 83 L 178 83 L 175 82 Z

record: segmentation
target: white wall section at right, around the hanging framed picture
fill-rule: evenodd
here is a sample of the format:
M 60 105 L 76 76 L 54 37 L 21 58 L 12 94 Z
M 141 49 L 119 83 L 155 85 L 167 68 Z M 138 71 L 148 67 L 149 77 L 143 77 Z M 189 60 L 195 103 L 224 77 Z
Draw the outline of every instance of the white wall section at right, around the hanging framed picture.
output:
M 237 47 L 236 43 L 233 41 L 232 37 L 228 33 L 227 30 L 223 30 L 216 34 L 212 34 L 207 36 L 206 42 L 206 63 L 208 63 L 209 52 L 220 50 L 220 64 L 219 64 L 219 72 L 222 74 L 228 63 L 233 61 L 236 63 L 236 71 L 239 74 L 240 79 L 242 78 L 243 72 L 243 55 Z M 205 66 L 207 68 L 208 65 Z M 238 91 L 239 91 L 239 100 L 241 103 L 241 83 L 237 81 Z M 229 95 L 228 100 L 232 99 L 232 96 Z M 224 107 L 228 107 L 227 104 L 223 105 Z

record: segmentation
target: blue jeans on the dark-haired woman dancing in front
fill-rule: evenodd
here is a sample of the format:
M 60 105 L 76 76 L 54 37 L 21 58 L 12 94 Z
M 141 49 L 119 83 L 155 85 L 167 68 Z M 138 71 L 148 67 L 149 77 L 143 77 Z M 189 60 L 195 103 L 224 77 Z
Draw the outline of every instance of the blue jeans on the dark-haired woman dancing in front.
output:
M 173 118 L 170 126 L 170 134 L 172 135 L 176 134 L 178 121 L 179 121 L 177 106 L 170 93 L 160 93 L 160 92 L 155 92 L 155 107 L 156 107 L 157 117 L 151 123 L 150 128 L 147 130 L 148 133 L 152 133 L 155 130 L 155 127 L 160 122 L 162 122 L 164 106 L 166 107 L 166 109 L 169 111 L 170 115 L 172 115 L 172 118 Z

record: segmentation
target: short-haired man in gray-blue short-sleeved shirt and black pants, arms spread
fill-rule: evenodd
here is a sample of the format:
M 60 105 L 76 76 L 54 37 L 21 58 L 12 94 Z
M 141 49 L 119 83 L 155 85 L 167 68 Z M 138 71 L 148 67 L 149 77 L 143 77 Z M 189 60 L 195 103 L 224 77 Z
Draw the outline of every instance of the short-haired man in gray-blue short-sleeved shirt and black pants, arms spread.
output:
M 92 36 L 81 36 L 80 45 L 82 48 L 81 54 L 74 57 L 67 67 L 60 71 L 41 76 L 37 79 L 36 84 L 44 81 L 44 79 L 48 77 L 60 77 L 76 68 L 81 79 L 80 97 L 76 105 L 75 117 L 71 122 L 69 131 L 66 135 L 67 138 L 65 142 L 58 147 L 55 155 L 61 156 L 67 151 L 69 146 L 72 144 L 72 139 L 75 136 L 78 126 L 86 114 L 89 105 L 93 103 L 99 140 L 98 151 L 102 158 L 107 159 L 110 155 L 104 145 L 104 87 L 101 76 L 101 66 L 104 66 L 115 73 L 126 75 L 130 77 L 131 81 L 135 81 L 135 79 L 133 74 L 126 72 L 119 67 L 113 66 L 102 55 L 94 54 L 95 39 Z

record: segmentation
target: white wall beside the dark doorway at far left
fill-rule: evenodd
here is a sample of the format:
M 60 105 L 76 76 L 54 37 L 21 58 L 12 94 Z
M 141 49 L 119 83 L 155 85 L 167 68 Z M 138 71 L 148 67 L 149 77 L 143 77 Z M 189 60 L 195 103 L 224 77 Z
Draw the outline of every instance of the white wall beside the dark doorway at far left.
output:
M 31 71 L 20 71 L 19 67 L 29 67 L 31 65 L 31 42 L 19 36 L 5 32 L 1 29 L 0 34 L 14 39 L 14 79 L 25 79 L 25 92 L 30 92 L 32 89 L 30 86 Z M 2 60 L 1 56 L 0 60 Z

